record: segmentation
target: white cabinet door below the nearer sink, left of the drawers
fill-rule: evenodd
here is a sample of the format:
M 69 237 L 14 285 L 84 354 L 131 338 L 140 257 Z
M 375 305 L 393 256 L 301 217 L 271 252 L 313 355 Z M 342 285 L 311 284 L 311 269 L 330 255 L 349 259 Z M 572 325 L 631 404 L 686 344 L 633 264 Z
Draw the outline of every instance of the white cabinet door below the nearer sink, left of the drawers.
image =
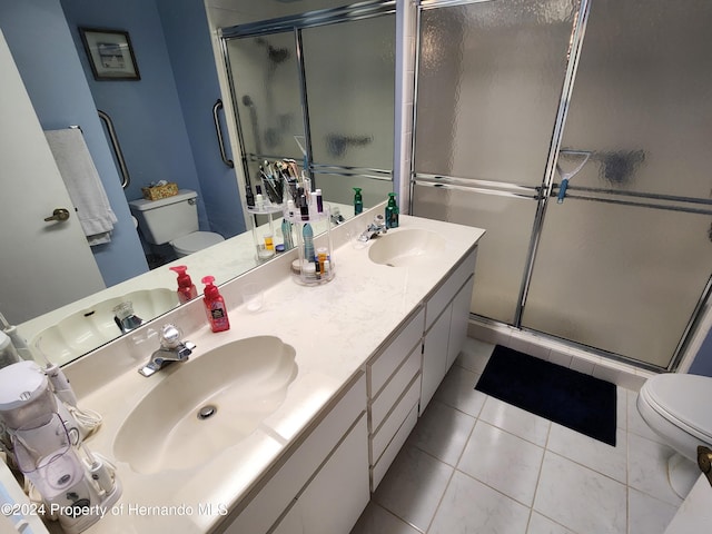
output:
M 367 443 L 362 416 L 273 534 L 350 532 L 370 496 Z

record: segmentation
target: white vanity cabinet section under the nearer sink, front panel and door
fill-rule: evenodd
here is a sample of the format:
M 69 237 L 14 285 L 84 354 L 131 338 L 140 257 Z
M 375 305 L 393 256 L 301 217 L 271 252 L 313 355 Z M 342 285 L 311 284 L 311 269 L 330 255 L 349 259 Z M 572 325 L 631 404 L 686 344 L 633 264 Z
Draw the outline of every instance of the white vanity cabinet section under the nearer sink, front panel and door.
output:
M 362 372 L 339 400 L 255 496 L 217 532 L 348 532 L 368 503 L 366 377 Z M 249 497 L 248 497 L 249 498 Z

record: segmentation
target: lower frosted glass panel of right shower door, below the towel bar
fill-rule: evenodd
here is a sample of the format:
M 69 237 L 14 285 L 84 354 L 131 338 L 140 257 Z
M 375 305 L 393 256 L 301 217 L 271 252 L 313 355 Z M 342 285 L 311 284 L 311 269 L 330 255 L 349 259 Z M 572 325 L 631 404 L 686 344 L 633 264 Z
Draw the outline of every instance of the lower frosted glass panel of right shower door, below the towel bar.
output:
M 522 326 L 666 367 L 710 278 L 710 221 L 574 198 L 552 204 Z

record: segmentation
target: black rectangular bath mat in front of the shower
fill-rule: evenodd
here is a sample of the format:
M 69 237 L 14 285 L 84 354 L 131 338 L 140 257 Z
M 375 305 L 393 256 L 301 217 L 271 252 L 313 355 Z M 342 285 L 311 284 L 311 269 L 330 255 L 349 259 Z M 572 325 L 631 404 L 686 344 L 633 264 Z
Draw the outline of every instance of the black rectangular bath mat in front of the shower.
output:
M 615 446 L 615 384 L 497 345 L 475 389 Z

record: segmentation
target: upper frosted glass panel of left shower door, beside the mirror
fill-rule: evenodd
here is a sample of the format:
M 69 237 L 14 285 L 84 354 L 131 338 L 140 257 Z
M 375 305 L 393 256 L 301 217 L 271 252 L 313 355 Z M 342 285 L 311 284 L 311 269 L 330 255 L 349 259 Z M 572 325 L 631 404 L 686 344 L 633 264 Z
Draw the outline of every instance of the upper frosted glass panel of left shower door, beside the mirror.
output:
M 578 1 L 423 10 L 415 170 L 538 186 Z

